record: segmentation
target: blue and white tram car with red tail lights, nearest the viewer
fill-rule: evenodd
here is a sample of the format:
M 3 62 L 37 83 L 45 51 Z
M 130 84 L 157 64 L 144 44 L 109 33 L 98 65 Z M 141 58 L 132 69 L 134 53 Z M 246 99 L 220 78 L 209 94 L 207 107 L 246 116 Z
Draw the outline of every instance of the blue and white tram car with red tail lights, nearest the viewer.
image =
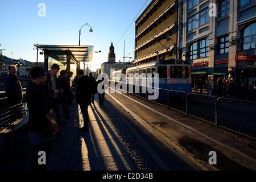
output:
M 152 87 L 154 87 L 155 73 L 159 75 L 159 88 L 168 90 L 177 90 L 182 92 L 191 92 L 191 64 L 181 59 L 157 61 L 154 63 L 142 64 L 137 67 L 126 69 L 126 78 L 129 75 L 138 74 L 141 78 L 146 78 L 152 74 Z M 129 83 L 129 78 L 127 78 Z M 130 84 L 130 83 L 129 83 Z M 135 85 L 143 85 L 143 82 L 133 80 Z

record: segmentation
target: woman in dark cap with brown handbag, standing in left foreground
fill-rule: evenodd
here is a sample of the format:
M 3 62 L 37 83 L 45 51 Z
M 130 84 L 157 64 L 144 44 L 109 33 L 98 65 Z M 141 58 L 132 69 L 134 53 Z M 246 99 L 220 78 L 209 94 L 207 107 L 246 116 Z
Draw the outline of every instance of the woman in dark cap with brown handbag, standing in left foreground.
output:
M 27 86 L 28 138 L 32 145 L 32 171 L 46 171 L 47 159 L 51 152 L 52 132 L 48 124 L 47 90 L 42 85 L 46 82 L 47 73 L 42 67 L 30 70 L 32 82 Z

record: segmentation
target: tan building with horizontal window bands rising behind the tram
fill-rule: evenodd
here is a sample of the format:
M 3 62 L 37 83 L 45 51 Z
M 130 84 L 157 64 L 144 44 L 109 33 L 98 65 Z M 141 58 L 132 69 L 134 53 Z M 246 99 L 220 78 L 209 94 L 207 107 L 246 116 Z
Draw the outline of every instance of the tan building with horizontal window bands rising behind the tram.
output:
M 135 21 L 134 65 L 176 58 L 177 1 L 153 0 Z

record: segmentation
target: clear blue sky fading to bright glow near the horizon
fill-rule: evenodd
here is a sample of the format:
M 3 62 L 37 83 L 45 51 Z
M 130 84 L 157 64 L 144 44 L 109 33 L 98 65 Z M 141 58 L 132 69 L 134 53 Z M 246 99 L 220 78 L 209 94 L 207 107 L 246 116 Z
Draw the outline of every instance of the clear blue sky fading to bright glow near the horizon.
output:
M 0 0 L 0 49 L 13 59 L 36 61 L 34 44 L 94 46 L 91 69 L 96 71 L 108 61 L 111 42 L 115 47 L 116 61 L 122 60 L 125 39 L 125 56 L 133 57 L 135 20 L 151 0 Z M 42 6 L 46 6 L 45 16 Z M 143 6 L 144 5 L 144 6 Z M 129 27 L 129 25 L 131 26 Z M 123 33 L 126 34 L 122 37 Z M 121 39 L 122 37 L 122 39 Z M 118 40 L 120 40 L 118 42 Z M 39 55 L 38 61 L 44 61 Z

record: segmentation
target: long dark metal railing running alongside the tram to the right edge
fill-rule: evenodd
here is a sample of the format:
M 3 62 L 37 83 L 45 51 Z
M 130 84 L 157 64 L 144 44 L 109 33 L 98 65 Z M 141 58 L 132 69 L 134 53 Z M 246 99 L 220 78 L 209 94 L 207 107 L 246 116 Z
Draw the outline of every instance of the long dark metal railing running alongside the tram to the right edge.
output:
M 134 92 L 135 88 L 139 90 Z M 154 93 L 148 93 L 146 86 L 133 85 L 129 93 L 148 99 Z M 146 93 L 142 90 L 146 89 Z M 151 88 L 154 89 L 154 88 Z M 195 118 L 211 123 L 214 127 L 223 127 L 249 138 L 256 138 L 256 102 L 217 98 L 196 93 L 156 88 L 159 97 L 154 102 L 180 111 Z M 167 98 L 167 99 L 166 99 Z M 151 100 L 152 101 L 152 100 Z

